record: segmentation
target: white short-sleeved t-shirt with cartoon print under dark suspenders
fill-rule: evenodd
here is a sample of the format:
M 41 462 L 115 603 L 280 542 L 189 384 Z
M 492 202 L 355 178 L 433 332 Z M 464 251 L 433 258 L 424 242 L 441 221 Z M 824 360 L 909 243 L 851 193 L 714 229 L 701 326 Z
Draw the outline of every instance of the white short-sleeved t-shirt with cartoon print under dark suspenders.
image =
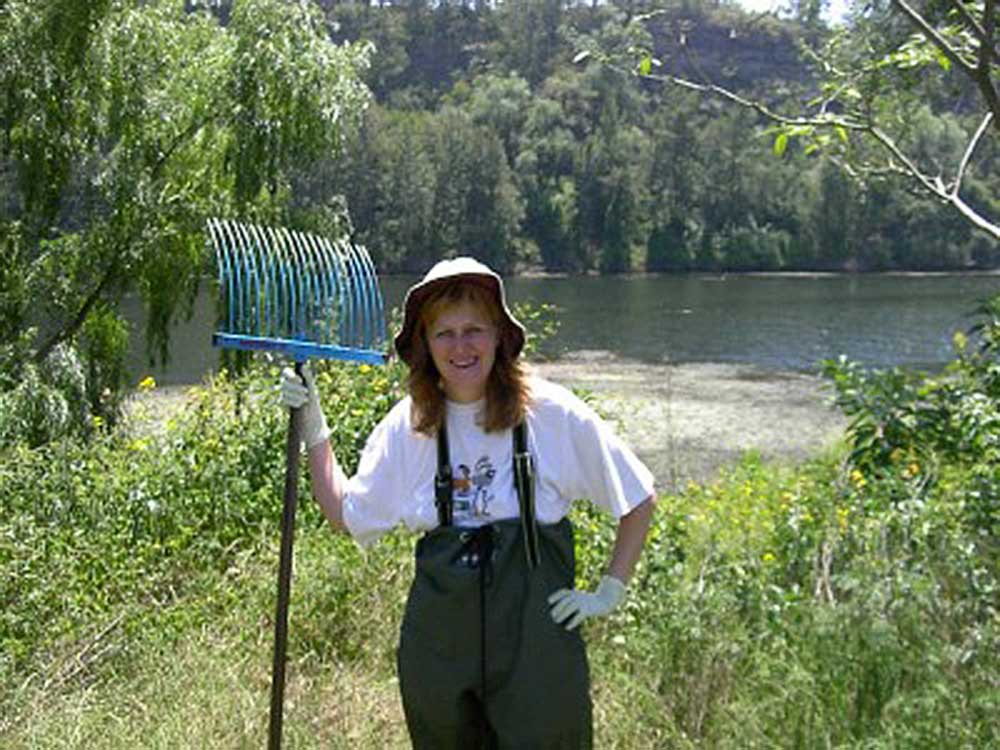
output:
M 606 422 L 569 390 L 532 378 L 528 449 L 535 458 L 535 513 L 556 523 L 574 500 L 589 499 L 614 518 L 653 494 L 653 475 Z M 476 423 L 482 402 L 448 402 L 454 523 L 478 526 L 519 515 L 511 431 L 486 433 Z M 410 398 L 368 438 L 348 482 L 344 523 L 370 544 L 400 523 L 414 531 L 438 525 L 434 504 L 437 439 L 412 429 Z

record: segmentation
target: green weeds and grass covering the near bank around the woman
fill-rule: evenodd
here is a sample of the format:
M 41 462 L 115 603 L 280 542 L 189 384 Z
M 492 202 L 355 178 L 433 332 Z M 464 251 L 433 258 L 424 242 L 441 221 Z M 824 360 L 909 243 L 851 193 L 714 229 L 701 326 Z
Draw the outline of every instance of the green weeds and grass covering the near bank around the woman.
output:
M 951 382 L 982 398 L 956 429 L 981 427 L 997 408 L 992 365 L 962 367 Z M 401 377 L 321 368 L 345 457 Z M 268 367 L 220 378 L 158 429 L 4 453 L 0 744 L 263 744 L 284 458 L 276 381 Z M 995 443 L 946 450 L 919 431 L 900 433 L 919 451 L 865 443 L 866 425 L 885 436 L 899 409 L 933 403 L 931 389 L 874 414 L 861 396 L 876 381 L 841 381 L 842 405 L 861 404 L 845 451 L 796 468 L 750 455 L 660 499 L 626 604 L 587 626 L 597 747 L 1000 741 Z M 865 446 L 876 463 L 861 460 Z M 286 743 L 405 747 L 394 645 L 412 540 L 362 551 L 302 492 Z M 574 520 L 579 579 L 592 585 L 612 525 L 586 507 Z

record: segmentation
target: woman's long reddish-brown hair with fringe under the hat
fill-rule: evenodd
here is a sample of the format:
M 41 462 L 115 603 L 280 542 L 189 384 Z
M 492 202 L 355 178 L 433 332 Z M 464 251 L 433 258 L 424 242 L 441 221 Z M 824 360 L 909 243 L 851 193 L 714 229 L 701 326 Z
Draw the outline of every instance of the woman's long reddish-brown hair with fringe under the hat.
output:
M 531 398 L 527 369 L 519 357 L 510 354 L 511 337 L 505 335 L 505 318 L 494 295 L 473 281 L 450 281 L 434 289 L 424 300 L 411 339 L 410 373 L 407 377 L 412 400 L 411 419 L 413 429 L 424 435 L 437 434 L 445 414 L 441 374 L 427 347 L 427 328 L 445 307 L 465 301 L 471 302 L 500 327 L 496 359 L 486 381 L 486 408 L 480 416 L 482 428 L 486 432 L 508 430 L 523 420 L 527 412 Z

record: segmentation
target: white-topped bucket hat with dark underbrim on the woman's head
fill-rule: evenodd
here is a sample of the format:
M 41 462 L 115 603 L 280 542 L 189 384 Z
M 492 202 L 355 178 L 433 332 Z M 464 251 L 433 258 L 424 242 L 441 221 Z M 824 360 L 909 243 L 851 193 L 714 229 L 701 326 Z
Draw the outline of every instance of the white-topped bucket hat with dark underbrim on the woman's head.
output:
M 406 364 L 411 364 L 410 355 L 413 351 L 413 335 L 420 320 L 420 308 L 435 288 L 450 281 L 461 280 L 478 284 L 493 295 L 497 308 L 503 316 L 503 330 L 500 332 L 502 341 L 506 344 L 505 351 L 511 359 L 517 357 L 524 348 L 524 326 L 513 316 L 507 307 L 507 298 L 503 291 L 503 279 L 489 266 L 480 263 L 475 258 L 460 257 L 442 260 L 435 263 L 424 278 L 414 284 L 406 292 L 403 300 L 403 327 L 394 340 L 396 352 Z

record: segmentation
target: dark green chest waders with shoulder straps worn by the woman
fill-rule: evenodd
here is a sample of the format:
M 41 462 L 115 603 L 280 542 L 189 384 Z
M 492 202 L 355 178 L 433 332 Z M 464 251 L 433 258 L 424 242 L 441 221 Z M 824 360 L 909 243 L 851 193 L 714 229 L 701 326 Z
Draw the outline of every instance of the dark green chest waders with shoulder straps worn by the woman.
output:
M 441 442 L 446 445 L 447 437 L 439 440 L 443 467 L 447 449 Z M 518 444 L 515 436 L 515 455 Z M 415 750 L 593 745 L 583 639 L 552 622 L 547 601 L 552 592 L 573 587 L 573 528 L 566 519 L 536 525 L 525 497 L 531 493 L 522 489 L 530 481 L 516 473 L 521 519 L 480 528 L 443 523 L 417 543 L 398 654 Z M 450 480 L 448 490 L 450 496 Z M 441 519 L 449 522 L 450 509 L 441 501 L 439 493 Z

